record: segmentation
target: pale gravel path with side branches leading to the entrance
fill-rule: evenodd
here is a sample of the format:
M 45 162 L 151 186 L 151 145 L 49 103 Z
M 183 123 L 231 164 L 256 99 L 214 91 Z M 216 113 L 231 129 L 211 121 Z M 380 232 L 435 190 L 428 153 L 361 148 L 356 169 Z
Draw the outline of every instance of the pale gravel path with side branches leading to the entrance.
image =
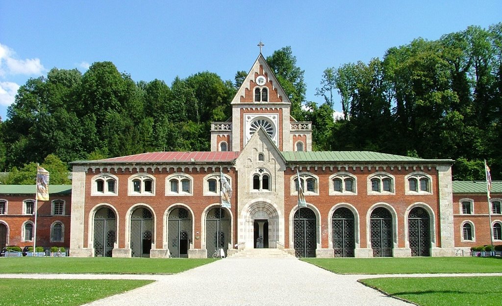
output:
M 385 276 L 412 275 L 339 275 L 296 258 L 226 258 L 175 275 L 38 274 L 36 278 L 157 280 L 144 287 L 91 302 L 87 304 L 89 306 L 412 305 L 357 282 L 361 278 Z M 0 274 L 0 278 L 8 277 L 33 278 L 33 275 Z

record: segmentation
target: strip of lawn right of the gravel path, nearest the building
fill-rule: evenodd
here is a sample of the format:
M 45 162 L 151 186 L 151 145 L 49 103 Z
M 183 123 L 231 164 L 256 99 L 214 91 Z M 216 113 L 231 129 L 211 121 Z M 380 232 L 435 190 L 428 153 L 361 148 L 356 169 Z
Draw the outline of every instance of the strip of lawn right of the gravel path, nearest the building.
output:
M 502 272 L 502 257 L 302 258 L 340 274 Z

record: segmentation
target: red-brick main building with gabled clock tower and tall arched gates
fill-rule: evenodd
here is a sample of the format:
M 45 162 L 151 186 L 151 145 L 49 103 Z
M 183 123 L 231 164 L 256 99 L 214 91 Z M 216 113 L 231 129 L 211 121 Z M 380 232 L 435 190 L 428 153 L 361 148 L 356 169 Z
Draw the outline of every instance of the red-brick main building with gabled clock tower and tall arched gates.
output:
M 203 258 L 217 248 L 277 248 L 301 257 L 454 256 L 456 247 L 489 244 L 480 225 L 487 215 L 476 215 L 483 196 L 456 187 L 452 160 L 312 151 L 311 122 L 291 117 L 262 54 L 231 106 L 228 121 L 211 124 L 211 151 L 72 163 L 70 255 Z M 220 208 L 220 172 L 233 189 L 229 209 Z M 300 209 L 297 172 L 307 202 Z M 468 218 L 463 199 L 475 206 Z M 466 222 L 475 239 L 462 238 Z M 22 237 L 11 230 L 9 244 L 13 235 Z

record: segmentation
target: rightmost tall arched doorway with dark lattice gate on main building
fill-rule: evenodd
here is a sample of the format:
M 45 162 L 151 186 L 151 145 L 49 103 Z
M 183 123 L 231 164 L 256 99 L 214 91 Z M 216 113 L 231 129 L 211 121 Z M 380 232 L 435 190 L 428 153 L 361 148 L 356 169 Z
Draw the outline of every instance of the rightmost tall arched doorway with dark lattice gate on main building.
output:
M 415 207 L 408 215 L 408 241 L 412 256 L 430 256 L 431 230 L 429 213 Z

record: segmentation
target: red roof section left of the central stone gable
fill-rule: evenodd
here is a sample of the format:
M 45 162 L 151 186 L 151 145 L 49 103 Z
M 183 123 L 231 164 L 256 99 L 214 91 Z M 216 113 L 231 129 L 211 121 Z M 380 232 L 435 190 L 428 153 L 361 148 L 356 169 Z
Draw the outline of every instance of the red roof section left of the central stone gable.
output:
M 94 162 L 99 163 L 207 163 L 231 162 L 240 152 L 152 152 L 115 157 Z

